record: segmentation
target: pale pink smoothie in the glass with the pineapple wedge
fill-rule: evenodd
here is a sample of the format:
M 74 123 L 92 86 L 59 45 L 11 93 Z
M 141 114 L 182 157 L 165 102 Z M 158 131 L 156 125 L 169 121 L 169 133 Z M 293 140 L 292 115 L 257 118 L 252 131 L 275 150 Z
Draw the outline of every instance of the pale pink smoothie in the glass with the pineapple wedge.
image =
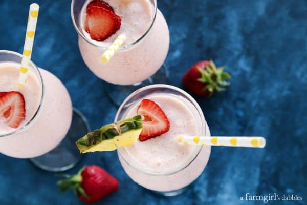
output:
M 139 185 L 158 192 L 182 189 L 204 170 L 210 146 L 184 146 L 176 142 L 179 135 L 210 136 L 209 128 L 201 126 L 202 117 L 190 101 L 182 96 L 157 93 L 143 99 L 155 101 L 170 122 L 165 134 L 119 150 L 119 159 L 126 173 Z M 141 100 L 128 108 L 123 118 L 137 115 Z

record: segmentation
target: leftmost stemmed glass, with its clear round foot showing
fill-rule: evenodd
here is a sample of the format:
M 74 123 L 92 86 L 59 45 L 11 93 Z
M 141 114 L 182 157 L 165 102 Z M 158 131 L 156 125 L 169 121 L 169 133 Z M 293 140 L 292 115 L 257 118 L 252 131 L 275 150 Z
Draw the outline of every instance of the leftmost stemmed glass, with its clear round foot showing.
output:
M 0 51 L 0 64 L 20 64 L 21 59 L 19 53 Z M 81 159 L 75 141 L 89 132 L 89 125 L 84 116 L 73 109 L 68 91 L 56 76 L 37 68 L 32 61 L 29 72 L 39 84 L 38 88 L 30 88 L 39 92 L 39 105 L 24 126 L 0 132 L 0 153 L 30 158 L 35 165 L 48 171 L 70 169 Z

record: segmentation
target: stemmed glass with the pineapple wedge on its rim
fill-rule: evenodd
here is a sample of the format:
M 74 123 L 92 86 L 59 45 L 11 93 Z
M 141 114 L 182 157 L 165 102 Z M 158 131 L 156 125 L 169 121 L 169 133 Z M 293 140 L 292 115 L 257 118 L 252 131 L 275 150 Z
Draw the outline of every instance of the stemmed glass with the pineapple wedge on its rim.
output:
M 185 91 L 169 85 L 146 86 L 131 93 L 118 109 L 114 121 L 124 119 L 136 103 L 155 94 L 173 95 L 180 98 L 193 113 L 199 135 L 210 136 L 209 127 L 198 103 Z M 192 153 L 190 160 L 183 163 L 183 165 L 172 167 L 168 171 L 161 171 L 159 169 L 149 170 L 141 165 L 126 147 L 117 150 L 121 165 L 131 179 L 142 187 L 164 196 L 174 196 L 183 193 L 187 186 L 205 169 L 210 152 L 210 146 L 198 147 Z

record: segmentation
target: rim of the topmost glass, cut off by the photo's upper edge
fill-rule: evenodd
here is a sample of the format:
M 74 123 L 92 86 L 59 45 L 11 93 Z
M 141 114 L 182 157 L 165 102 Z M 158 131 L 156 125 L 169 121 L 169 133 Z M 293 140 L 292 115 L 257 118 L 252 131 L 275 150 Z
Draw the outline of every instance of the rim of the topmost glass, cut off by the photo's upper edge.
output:
M 83 40 L 85 40 L 87 43 L 91 44 L 92 46 L 95 46 L 95 47 L 97 47 L 99 49 L 102 49 L 102 50 L 108 49 L 108 47 L 99 46 L 99 45 L 91 42 L 91 40 L 87 39 L 85 37 L 85 35 L 83 34 L 83 32 L 79 30 L 78 26 L 76 25 L 75 18 L 74 18 L 74 4 L 75 4 L 76 1 L 77 0 L 72 0 L 72 3 L 71 3 L 71 18 L 72 18 L 72 21 L 73 21 L 74 28 L 77 31 L 78 35 L 81 36 L 83 38 Z M 128 48 L 136 45 L 137 43 L 139 43 L 149 33 L 149 31 L 151 30 L 151 28 L 153 26 L 153 23 L 155 23 L 156 16 L 157 16 L 157 10 L 158 10 L 157 0 L 153 0 L 153 3 L 154 3 L 154 8 L 153 9 L 155 10 L 155 12 L 153 14 L 153 18 L 152 18 L 151 23 L 150 23 L 149 27 L 147 28 L 147 30 L 143 33 L 143 35 L 141 35 L 133 43 L 120 47 L 118 49 L 118 51 L 122 51 L 122 50 L 128 49 Z

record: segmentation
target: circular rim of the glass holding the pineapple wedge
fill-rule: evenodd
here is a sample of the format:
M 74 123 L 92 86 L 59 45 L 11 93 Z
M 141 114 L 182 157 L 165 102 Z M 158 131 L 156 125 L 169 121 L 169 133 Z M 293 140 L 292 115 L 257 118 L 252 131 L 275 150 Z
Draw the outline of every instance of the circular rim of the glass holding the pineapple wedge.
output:
M 118 117 L 119 117 L 119 114 L 121 112 L 121 110 L 126 106 L 126 103 L 128 100 L 130 100 L 131 98 L 133 98 L 134 96 L 138 95 L 139 93 L 141 93 L 142 91 L 145 91 L 145 90 L 148 90 L 148 89 L 152 89 L 152 88 L 167 88 L 167 89 L 170 89 L 170 90 L 174 90 L 174 91 L 177 91 L 177 92 L 180 92 L 181 94 L 183 94 L 185 97 L 188 98 L 188 100 L 191 100 L 191 104 L 196 108 L 196 110 L 198 111 L 199 115 L 200 115 L 200 118 L 201 118 L 201 124 L 202 124 L 202 131 L 206 132 L 206 121 L 205 121 L 205 117 L 204 117 L 204 113 L 201 109 L 201 107 L 199 106 L 199 104 L 196 102 L 196 100 L 190 95 L 188 94 L 187 92 L 185 92 L 184 90 L 178 88 L 178 87 L 175 87 L 175 86 L 170 86 L 170 85 L 165 85 L 165 84 L 155 84 L 155 85 L 149 85 L 149 86 L 145 86 L 145 87 L 142 87 L 136 91 L 134 91 L 133 93 L 131 93 L 124 101 L 123 103 L 121 104 L 121 106 L 119 107 L 116 115 L 115 115 L 115 119 L 114 121 L 118 121 Z M 193 158 L 187 163 L 185 164 L 184 166 L 182 167 L 179 167 L 178 169 L 174 170 L 174 171 L 168 171 L 166 173 L 152 173 L 152 172 L 148 172 L 144 169 L 141 169 L 141 168 L 138 168 L 137 166 L 134 166 L 132 165 L 127 159 L 126 157 L 124 156 L 124 153 L 123 153 L 123 150 L 125 148 L 118 148 L 117 149 L 117 153 L 118 153 L 118 156 L 121 157 L 125 163 L 127 163 L 128 166 L 130 166 L 131 168 L 139 171 L 139 172 L 142 172 L 143 174 L 146 174 L 146 175 L 151 175 L 151 176 L 168 176 L 168 175 L 172 175 L 172 174 L 176 174 L 182 170 L 184 170 L 185 168 L 187 168 L 195 159 L 196 157 L 198 157 L 198 155 L 200 154 L 200 152 L 202 151 L 202 148 L 203 146 L 200 146 L 200 149 L 197 151 L 197 153 L 193 156 Z

